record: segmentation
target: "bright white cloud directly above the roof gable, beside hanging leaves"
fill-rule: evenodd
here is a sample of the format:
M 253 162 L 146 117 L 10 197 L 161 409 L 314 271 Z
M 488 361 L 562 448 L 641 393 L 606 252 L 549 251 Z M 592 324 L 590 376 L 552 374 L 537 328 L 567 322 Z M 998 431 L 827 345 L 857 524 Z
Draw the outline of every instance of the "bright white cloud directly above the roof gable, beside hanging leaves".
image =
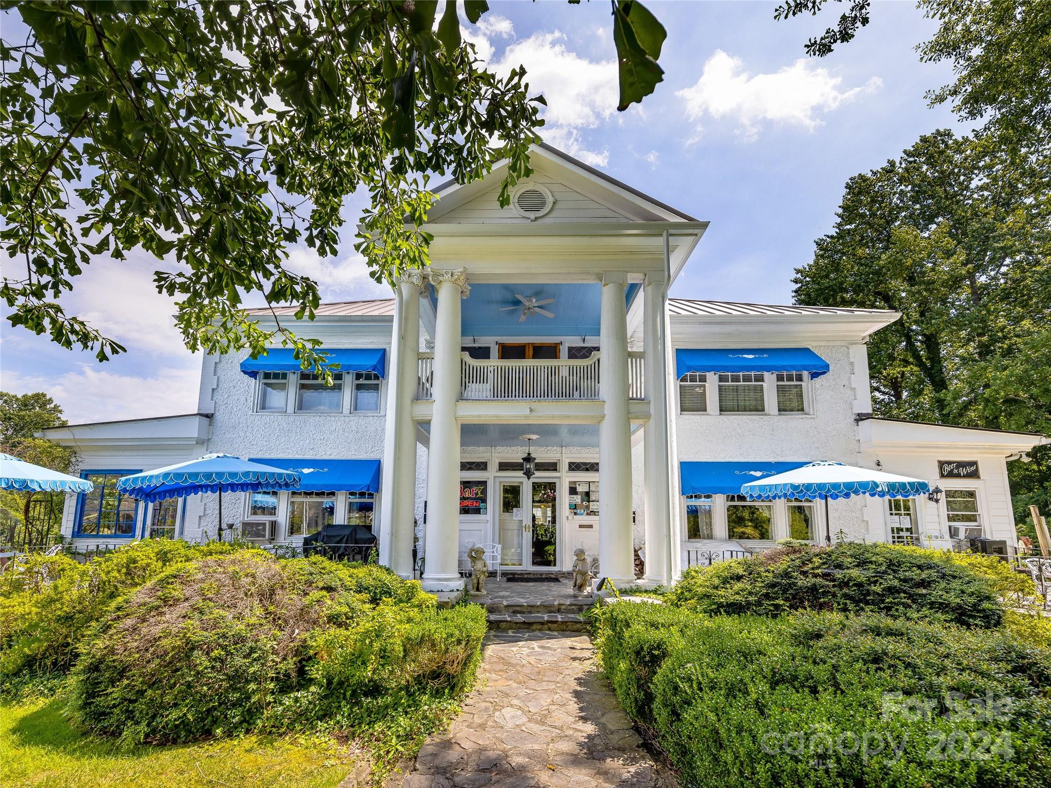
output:
M 548 101 L 542 112 L 544 139 L 588 164 L 604 167 L 609 151 L 586 148 L 580 129 L 595 128 L 616 113 L 617 62 L 588 60 L 566 48 L 565 40 L 559 30 L 534 33 L 510 44 L 492 67 L 507 75 L 526 66 L 530 92 L 542 92 Z

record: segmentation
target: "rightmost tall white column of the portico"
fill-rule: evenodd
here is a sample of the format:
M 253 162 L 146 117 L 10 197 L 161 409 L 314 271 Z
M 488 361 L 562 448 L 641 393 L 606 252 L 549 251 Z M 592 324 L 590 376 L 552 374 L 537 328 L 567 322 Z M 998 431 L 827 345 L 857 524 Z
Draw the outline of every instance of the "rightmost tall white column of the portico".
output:
M 671 544 L 672 504 L 668 472 L 667 369 L 664 364 L 663 277 L 646 277 L 642 305 L 642 344 L 645 349 L 644 377 L 650 400 L 650 421 L 643 428 L 642 450 L 645 457 L 643 495 L 646 528 L 647 583 L 669 585 L 672 581 L 668 549 Z

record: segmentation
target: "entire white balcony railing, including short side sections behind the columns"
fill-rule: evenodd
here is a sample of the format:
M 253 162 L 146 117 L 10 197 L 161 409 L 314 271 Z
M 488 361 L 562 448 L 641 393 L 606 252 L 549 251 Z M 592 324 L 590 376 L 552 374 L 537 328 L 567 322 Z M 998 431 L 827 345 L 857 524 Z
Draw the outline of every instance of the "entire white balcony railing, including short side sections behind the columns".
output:
M 627 354 L 631 399 L 642 399 L 642 353 Z M 434 354 L 419 354 L 416 399 L 433 399 Z M 556 400 L 600 399 L 599 354 L 588 358 L 489 359 L 460 357 L 460 399 Z

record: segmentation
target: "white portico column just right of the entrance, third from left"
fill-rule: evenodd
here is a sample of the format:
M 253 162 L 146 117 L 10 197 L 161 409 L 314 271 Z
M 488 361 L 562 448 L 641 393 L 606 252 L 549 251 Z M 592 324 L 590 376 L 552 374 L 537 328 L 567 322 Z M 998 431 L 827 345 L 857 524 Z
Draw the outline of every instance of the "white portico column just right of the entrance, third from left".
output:
M 632 431 L 627 420 L 627 309 L 624 274 L 602 279 L 599 391 L 605 414 L 599 427 L 599 575 L 635 582 L 632 540 Z

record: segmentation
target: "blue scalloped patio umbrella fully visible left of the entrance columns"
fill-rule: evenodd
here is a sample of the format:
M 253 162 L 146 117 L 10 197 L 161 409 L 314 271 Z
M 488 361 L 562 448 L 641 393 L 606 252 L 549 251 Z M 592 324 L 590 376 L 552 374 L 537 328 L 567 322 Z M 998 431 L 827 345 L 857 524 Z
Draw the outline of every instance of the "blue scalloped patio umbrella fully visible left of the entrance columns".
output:
M 200 459 L 122 476 L 117 489 L 141 501 L 184 498 L 198 493 L 219 493 L 219 533 L 223 533 L 223 492 L 295 490 L 300 474 L 261 462 L 249 462 L 230 454 L 206 454 Z

